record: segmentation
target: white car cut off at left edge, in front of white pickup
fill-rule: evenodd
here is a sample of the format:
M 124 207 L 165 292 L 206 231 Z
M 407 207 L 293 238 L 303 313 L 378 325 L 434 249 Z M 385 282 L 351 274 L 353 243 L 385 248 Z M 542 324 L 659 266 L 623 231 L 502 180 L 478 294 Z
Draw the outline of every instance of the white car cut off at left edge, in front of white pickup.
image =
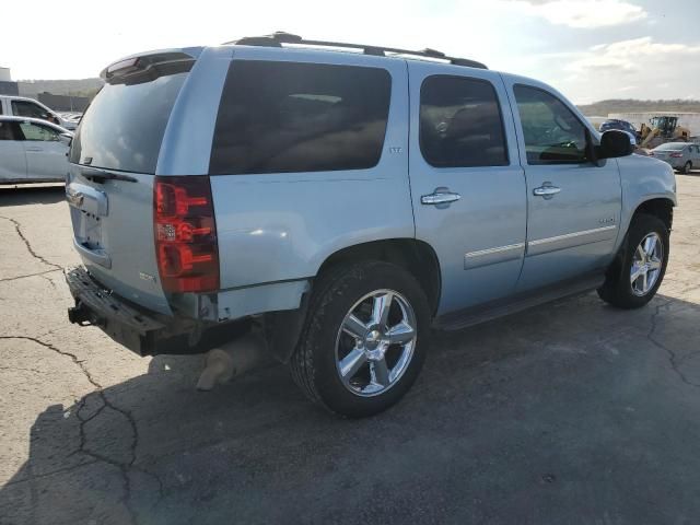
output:
M 0 116 L 0 184 L 66 180 L 72 137 L 38 118 Z

